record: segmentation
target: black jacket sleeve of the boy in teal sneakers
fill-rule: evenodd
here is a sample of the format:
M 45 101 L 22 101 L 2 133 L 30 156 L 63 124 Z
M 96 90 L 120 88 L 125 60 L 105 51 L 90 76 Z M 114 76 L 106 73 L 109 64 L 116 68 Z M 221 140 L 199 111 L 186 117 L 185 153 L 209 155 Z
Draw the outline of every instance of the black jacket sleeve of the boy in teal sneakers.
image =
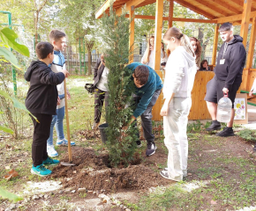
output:
M 62 72 L 55 73 L 51 69 L 40 69 L 39 78 L 41 84 L 57 85 L 64 81 L 65 76 Z

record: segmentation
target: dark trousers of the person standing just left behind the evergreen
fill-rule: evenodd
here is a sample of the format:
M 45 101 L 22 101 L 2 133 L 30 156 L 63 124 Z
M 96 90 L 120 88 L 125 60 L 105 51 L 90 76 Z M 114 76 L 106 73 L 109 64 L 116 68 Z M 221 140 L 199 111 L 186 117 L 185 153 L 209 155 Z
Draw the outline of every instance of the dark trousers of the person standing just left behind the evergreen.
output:
M 94 90 L 94 122 L 99 123 L 102 116 L 102 106 L 105 99 L 105 109 L 108 107 L 109 95 L 107 91 L 98 88 Z

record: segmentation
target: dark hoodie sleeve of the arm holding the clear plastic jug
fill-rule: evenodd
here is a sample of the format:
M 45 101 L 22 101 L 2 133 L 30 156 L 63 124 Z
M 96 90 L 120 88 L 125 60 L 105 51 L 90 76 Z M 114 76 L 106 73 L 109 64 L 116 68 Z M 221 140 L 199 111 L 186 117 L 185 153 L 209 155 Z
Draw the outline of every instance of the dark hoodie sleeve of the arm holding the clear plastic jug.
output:
M 225 81 L 225 88 L 227 88 L 228 90 L 231 89 L 232 84 L 234 83 L 239 71 L 244 69 L 244 67 L 241 67 L 241 64 L 245 62 L 245 57 L 246 57 L 246 52 L 245 52 L 245 47 L 243 45 L 234 47 L 231 50 L 229 74 Z

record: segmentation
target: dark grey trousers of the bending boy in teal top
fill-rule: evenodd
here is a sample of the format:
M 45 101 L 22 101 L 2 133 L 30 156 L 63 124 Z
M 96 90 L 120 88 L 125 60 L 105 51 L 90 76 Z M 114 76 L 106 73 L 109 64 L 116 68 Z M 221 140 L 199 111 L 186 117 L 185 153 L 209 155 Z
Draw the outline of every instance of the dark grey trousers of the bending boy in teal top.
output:
M 161 93 L 161 90 L 154 91 L 154 95 L 151 98 L 151 101 L 148 104 L 146 111 L 140 115 L 141 126 L 143 128 L 144 138 L 147 140 L 147 143 L 154 142 L 154 134 L 152 131 L 152 117 L 153 117 L 152 108 L 153 108 L 157 98 L 159 97 L 160 93 Z M 141 97 L 139 97 L 135 94 L 133 94 L 132 97 L 135 102 L 135 105 L 138 105 Z M 135 126 L 136 125 L 137 125 L 137 122 L 135 120 Z M 138 135 L 138 140 L 139 140 L 139 133 L 137 135 Z

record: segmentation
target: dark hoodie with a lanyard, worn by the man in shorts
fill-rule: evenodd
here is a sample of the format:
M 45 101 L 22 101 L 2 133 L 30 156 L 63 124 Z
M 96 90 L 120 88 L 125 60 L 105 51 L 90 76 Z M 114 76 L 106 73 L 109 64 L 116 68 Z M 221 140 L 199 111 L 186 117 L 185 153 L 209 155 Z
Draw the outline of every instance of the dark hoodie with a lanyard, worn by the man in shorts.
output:
M 219 51 L 217 64 L 214 71 L 217 79 L 225 81 L 225 88 L 230 90 L 232 88 L 232 84 L 242 83 L 246 51 L 243 45 L 243 38 L 239 35 L 234 35 L 234 39 L 228 42 L 225 55 L 223 55 L 224 46 L 225 43 L 222 44 L 222 47 Z M 225 59 L 224 64 L 220 64 L 222 55 L 223 59 Z

